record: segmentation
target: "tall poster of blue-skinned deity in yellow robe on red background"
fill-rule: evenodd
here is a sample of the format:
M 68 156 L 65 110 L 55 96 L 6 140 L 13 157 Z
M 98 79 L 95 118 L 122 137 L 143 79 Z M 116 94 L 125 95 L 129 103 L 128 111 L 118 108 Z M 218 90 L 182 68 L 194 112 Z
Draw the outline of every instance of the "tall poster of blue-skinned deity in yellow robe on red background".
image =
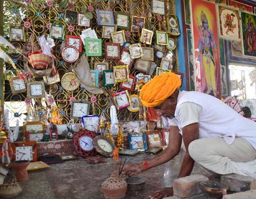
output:
M 191 1 L 195 88 L 221 98 L 220 56 L 215 3 Z

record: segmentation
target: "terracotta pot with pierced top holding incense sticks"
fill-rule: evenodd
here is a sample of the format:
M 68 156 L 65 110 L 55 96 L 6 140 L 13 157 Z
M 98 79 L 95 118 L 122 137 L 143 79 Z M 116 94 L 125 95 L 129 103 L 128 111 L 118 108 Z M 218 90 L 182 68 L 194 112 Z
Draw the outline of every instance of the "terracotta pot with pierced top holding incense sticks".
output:
M 112 174 L 111 177 L 102 183 L 102 190 L 105 198 L 120 199 L 125 196 L 127 182 L 115 174 Z

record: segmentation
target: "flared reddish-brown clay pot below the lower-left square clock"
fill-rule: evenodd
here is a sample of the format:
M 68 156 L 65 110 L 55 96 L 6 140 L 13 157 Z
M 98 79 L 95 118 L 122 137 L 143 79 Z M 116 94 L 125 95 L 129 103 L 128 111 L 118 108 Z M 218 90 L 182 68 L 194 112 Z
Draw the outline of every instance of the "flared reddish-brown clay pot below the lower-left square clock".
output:
M 29 179 L 28 171 L 26 170 L 29 163 L 29 161 L 15 161 L 9 165 L 9 167 L 14 169 L 15 177 L 17 178 L 18 182 Z

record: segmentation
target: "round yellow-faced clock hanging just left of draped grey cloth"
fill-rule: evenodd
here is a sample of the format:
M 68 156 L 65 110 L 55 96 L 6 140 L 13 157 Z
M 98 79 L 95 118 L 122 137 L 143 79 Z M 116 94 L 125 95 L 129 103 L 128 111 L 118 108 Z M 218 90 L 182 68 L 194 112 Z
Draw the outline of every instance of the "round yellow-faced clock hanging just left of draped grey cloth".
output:
M 67 72 L 61 78 L 61 86 L 67 91 L 76 90 L 79 87 L 79 79 L 74 72 Z

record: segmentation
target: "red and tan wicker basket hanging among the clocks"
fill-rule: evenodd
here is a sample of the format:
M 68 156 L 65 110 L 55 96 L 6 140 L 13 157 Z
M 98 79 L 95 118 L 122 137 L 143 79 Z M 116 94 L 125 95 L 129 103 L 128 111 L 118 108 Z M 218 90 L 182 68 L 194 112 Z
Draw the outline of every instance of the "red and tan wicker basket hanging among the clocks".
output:
M 48 55 L 44 55 L 41 52 L 29 53 L 29 64 L 36 70 L 45 70 L 51 66 L 52 58 Z

